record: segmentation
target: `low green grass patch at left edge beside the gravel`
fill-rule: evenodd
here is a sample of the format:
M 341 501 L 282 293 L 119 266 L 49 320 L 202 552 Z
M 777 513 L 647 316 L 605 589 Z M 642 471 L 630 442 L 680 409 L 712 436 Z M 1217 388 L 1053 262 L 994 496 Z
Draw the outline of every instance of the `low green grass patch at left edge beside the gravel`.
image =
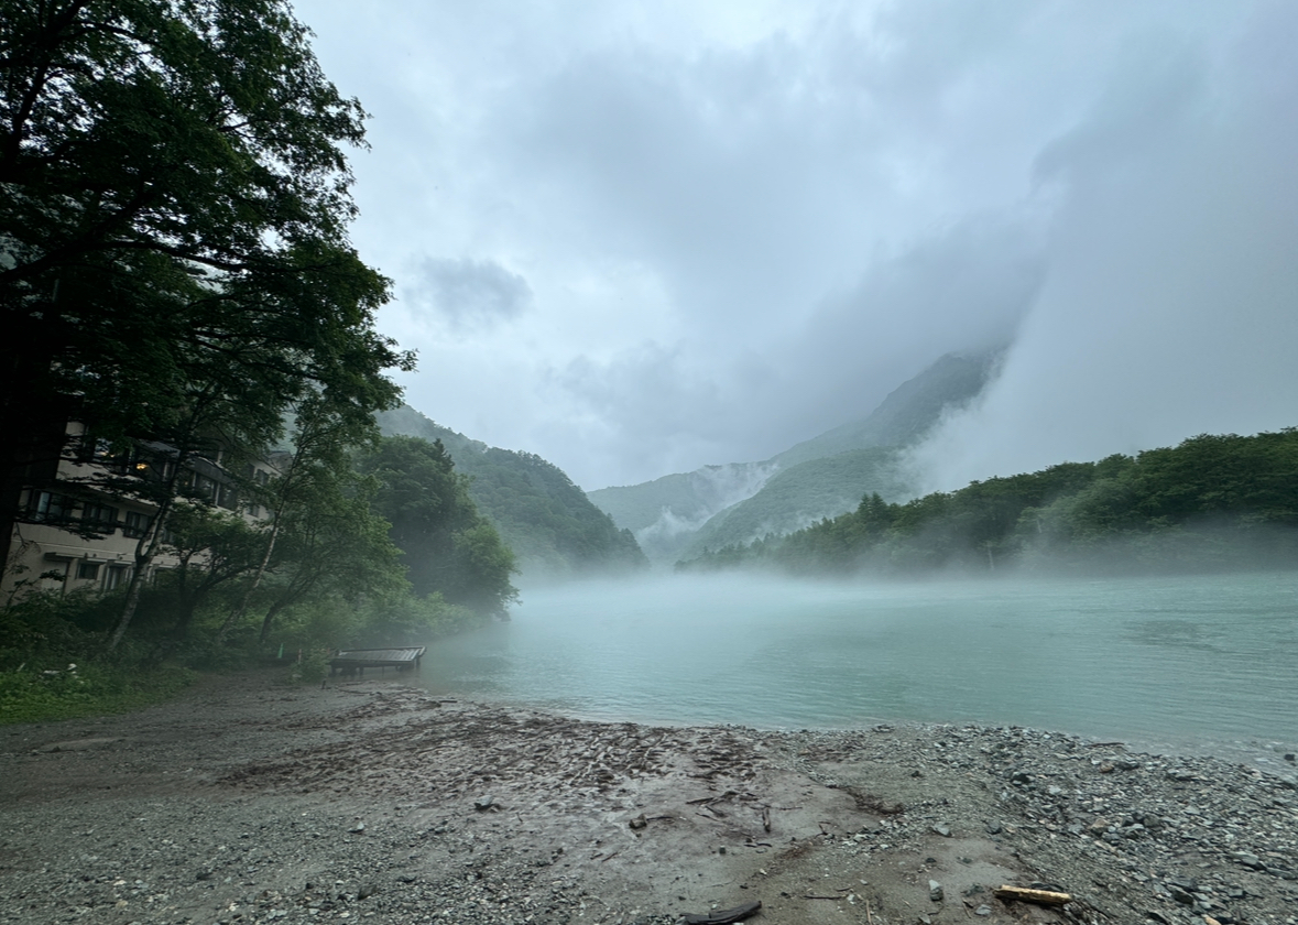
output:
M 0 725 L 126 713 L 170 700 L 197 678 L 179 666 L 105 665 L 0 672 Z

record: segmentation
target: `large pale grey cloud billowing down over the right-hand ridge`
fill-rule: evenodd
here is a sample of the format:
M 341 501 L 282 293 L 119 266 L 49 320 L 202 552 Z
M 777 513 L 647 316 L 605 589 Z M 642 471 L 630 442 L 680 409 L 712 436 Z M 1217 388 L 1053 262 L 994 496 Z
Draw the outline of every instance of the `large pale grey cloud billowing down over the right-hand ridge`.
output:
M 1298 39 L 1273 10 L 1210 65 L 1119 68 L 1042 161 L 1049 272 L 999 381 L 919 453 L 935 486 L 1298 424 Z M 1259 70 L 1266 71 L 1267 79 Z M 1127 125 L 1131 122 L 1131 125 Z

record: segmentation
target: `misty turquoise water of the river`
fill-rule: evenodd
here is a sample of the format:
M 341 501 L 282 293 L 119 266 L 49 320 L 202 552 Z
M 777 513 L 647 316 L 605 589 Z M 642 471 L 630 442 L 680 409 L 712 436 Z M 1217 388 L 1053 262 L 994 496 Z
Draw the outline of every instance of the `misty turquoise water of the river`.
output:
M 430 647 L 421 677 L 609 720 L 977 722 L 1275 755 L 1298 743 L 1298 573 L 540 587 L 513 621 Z

